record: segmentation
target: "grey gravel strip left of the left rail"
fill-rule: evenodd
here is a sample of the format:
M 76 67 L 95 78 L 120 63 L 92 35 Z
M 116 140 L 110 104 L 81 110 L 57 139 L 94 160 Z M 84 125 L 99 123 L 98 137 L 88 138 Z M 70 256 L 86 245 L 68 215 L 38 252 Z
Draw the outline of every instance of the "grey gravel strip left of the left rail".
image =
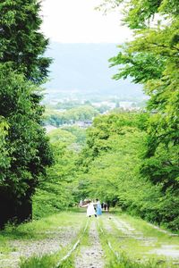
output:
M 12 240 L 10 247 L 12 251 L 9 255 L 0 254 L 1 268 L 18 268 L 21 257 L 29 258 L 32 255 L 53 254 L 62 247 L 70 244 L 78 233 L 79 229 L 70 227 L 59 228 L 53 231 L 47 231 L 47 239 L 41 240 Z

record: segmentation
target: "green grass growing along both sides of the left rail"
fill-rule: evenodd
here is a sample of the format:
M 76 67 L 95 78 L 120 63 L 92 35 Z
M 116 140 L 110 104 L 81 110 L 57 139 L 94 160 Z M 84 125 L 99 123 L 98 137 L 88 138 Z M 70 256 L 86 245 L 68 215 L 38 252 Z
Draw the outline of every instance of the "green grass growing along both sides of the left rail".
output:
M 73 239 L 70 245 L 62 248 L 60 251 L 52 255 L 32 256 L 29 259 L 21 259 L 20 268 L 73 268 L 74 257 L 76 255 L 76 252 L 79 251 L 78 247 L 66 260 L 64 260 L 58 266 L 56 266 L 56 264 L 58 264 L 58 262 L 60 262 L 64 255 L 67 255 L 68 252 L 72 249 L 73 245 L 76 243 L 77 239 L 79 239 L 82 231 L 84 230 L 85 225 L 86 221 L 83 221 L 81 230 L 79 231 L 77 238 Z M 86 245 L 89 243 L 88 230 L 89 228 L 81 237 L 81 245 Z

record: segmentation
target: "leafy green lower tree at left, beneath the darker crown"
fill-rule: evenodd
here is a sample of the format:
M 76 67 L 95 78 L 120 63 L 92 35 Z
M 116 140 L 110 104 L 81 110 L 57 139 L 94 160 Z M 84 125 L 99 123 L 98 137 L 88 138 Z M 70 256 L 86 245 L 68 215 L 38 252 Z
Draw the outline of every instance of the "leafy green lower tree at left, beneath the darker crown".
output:
M 0 66 L 0 111 L 8 128 L 4 151 L 9 158 L 0 174 L 0 186 L 6 186 L 14 197 L 29 197 L 45 175 L 52 155 L 45 132 L 40 126 L 43 109 L 34 104 L 33 94 L 41 98 L 23 75 Z M 6 161 L 4 161 L 6 163 Z

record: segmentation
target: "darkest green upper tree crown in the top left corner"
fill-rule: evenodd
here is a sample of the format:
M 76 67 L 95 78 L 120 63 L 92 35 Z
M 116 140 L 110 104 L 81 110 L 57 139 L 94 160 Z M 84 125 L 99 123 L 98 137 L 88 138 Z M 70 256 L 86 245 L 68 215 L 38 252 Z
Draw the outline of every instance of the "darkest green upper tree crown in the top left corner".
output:
M 48 40 L 40 33 L 42 19 L 37 0 L 4 0 L 0 3 L 0 63 L 11 62 L 13 70 L 28 80 L 41 83 L 47 78 L 51 60 L 44 57 Z

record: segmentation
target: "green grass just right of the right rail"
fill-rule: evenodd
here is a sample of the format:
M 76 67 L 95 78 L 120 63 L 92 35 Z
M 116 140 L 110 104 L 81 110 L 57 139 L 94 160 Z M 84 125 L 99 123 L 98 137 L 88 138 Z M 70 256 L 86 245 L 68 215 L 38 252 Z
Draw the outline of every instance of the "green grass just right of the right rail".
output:
M 145 247 L 140 247 L 138 241 L 134 239 L 122 239 L 124 236 L 120 230 L 116 229 L 115 223 L 110 221 L 113 229 L 109 232 L 103 225 L 104 218 L 99 219 L 99 224 L 104 233 L 99 231 L 99 239 L 106 255 L 106 268 L 170 268 L 176 267 L 168 262 L 164 257 L 156 255 L 146 255 Z M 107 245 L 110 242 L 112 249 Z

